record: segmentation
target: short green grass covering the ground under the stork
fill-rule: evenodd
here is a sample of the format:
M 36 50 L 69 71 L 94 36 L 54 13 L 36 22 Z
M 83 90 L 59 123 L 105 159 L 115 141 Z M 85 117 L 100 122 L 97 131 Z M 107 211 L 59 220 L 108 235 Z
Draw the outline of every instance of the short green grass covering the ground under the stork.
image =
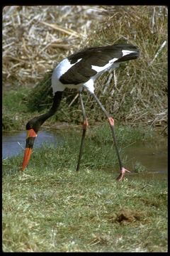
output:
M 23 156 L 4 160 L 4 252 L 167 251 L 167 183 L 140 175 L 118 183 L 108 128 L 89 130 L 79 172 L 75 131 L 57 149 L 35 149 L 23 173 Z M 117 131 L 121 146 L 128 129 Z M 149 139 L 134 131 L 136 139 Z

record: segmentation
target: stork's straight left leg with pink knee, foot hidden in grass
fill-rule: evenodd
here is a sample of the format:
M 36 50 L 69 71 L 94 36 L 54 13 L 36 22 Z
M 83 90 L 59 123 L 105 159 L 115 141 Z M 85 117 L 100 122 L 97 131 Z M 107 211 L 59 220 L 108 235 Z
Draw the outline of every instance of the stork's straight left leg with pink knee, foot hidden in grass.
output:
M 81 145 L 80 145 L 80 151 L 79 151 L 79 159 L 78 159 L 78 164 L 77 164 L 77 171 L 79 171 L 79 165 L 80 165 L 80 161 L 81 161 L 81 156 L 82 156 L 82 151 L 83 151 L 83 146 L 84 146 L 84 137 L 86 134 L 86 128 L 88 127 L 88 122 L 87 122 L 87 118 L 86 118 L 86 112 L 84 109 L 84 102 L 82 99 L 82 95 L 81 92 L 79 92 L 79 99 L 80 99 L 80 103 L 81 103 L 81 110 L 82 110 L 82 114 L 83 114 L 83 133 L 82 133 L 82 137 L 81 137 Z

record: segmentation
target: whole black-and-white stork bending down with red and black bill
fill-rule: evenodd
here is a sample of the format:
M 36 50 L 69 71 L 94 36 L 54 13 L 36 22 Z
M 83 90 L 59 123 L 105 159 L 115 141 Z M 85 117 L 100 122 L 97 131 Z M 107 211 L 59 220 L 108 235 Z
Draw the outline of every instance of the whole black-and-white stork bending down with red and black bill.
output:
M 118 68 L 122 61 L 136 59 L 139 57 L 139 55 L 140 53 L 136 46 L 132 46 L 131 44 L 115 44 L 112 46 L 87 48 L 79 51 L 78 53 L 70 55 L 68 58 L 64 58 L 64 60 L 57 65 L 52 73 L 52 90 L 54 95 L 52 107 L 47 113 L 30 119 L 30 121 L 26 124 L 28 137 L 26 139 L 26 150 L 23 156 L 23 165 L 21 170 L 23 171 L 26 168 L 28 161 L 30 160 L 35 137 L 37 137 L 40 126 L 45 122 L 45 120 L 47 120 L 57 111 L 60 101 L 62 100 L 62 92 L 65 88 L 75 88 L 79 92 L 79 100 L 84 119 L 79 159 L 77 164 L 77 171 L 79 171 L 79 164 L 84 146 L 84 137 L 86 134 L 86 128 L 88 126 L 84 102 L 81 96 L 81 92 L 83 88 L 85 88 L 91 93 L 98 105 L 101 107 L 101 110 L 103 110 L 104 114 L 106 114 L 106 117 L 108 118 L 120 166 L 120 175 L 117 179 L 118 181 L 122 181 L 125 176 L 125 172 L 130 171 L 123 167 L 115 139 L 114 119 L 111 117 L 111 114 L 108 114 L 100 100 L 98 100 L 98 97 L 95 95 L 94 82 L 96 78 L 98 78 L 98 76 L 104 73 L 106 70 Z

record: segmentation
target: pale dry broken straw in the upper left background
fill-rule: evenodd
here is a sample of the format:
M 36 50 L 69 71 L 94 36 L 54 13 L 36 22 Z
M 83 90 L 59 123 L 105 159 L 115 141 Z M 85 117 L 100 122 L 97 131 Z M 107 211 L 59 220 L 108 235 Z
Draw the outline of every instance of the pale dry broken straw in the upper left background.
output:
M 3 79 L 12 87 L 40 81 L 65 55 L 83 47 L 94 6 L 5 6 L 3 10 Z

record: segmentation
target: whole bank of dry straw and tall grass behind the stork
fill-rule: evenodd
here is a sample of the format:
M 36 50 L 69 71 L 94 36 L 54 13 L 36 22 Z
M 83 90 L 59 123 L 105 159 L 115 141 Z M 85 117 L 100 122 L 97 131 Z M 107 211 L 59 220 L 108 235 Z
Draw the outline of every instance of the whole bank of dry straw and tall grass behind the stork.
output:
M 50 75 L 62 58 L 81 48 L 113 43 L 138 46 L 140 58 L 102 75 L 96 94 L 115 119 L 151 127 L 166 124 L 166 6 L 6 6 L 4 88 L 37 84 L 28 95 L 28 107 L 36 110 L 41 105 L 43 110 L 52 102 Z M 57 118 L 79 122 L 77 92 L 65 93 L 69 97 L 63 99 Z M 101 121 L 103 115 L 96 114 L 98 106 L 89 94 L 84 101 L 88 116 Z

